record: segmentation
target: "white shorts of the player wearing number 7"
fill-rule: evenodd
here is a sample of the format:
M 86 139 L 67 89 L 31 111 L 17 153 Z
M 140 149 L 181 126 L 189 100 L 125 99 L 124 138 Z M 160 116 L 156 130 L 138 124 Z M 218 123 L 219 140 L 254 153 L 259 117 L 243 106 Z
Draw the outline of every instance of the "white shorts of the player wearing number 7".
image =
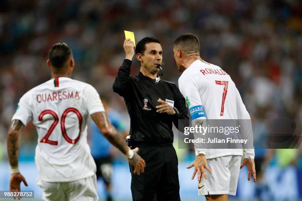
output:
M 207 170 L 207 179 L 201 177 L 198 184 L 198 195 L 236 195 L 239 177 L 241 156 L 222 156 L 207 159 L 208 167 L 212 174 Z M 200 178 L 200 175 L 199 175 Z

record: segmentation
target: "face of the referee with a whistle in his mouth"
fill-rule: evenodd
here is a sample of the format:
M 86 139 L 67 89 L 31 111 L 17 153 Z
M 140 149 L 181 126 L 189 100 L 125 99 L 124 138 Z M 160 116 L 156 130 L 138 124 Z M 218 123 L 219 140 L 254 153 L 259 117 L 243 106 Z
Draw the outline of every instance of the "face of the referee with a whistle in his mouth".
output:
M 150 42 L 145 45 L 144 55 L 141 57 L 141 65 L 151 74 L 158 72 L 157 65 L 162 62 L 162 48 L 157 42 Z

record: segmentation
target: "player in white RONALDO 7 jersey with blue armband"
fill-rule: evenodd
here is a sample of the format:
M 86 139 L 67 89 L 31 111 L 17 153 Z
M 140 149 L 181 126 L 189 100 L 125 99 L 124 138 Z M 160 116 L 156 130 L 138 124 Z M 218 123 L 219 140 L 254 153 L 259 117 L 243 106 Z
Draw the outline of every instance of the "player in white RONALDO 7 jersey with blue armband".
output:
M 174 41 L 173 51 L 178 70 L 183 72 L 179 78 L 179 89 L 187 100 L 192 125 L 202 125 L 211 119 L 250 120 L 230 76 L 222 68 L 200 58 L 200 44 L 195 35 L 180 35 Z M 240 165 L 243 151 L 245 155 Z M 195 147 L 195 153 L 196 158 L 188 168 L 195 166 L 192 179 L 198 172 L 198 195 L 205 195 L 207 201 L 227 201 L 228 194 L 235 195 L 239 169 L 243 166 L 248 167 L 248 180 L 252 173 L 256 182 L 255 154 L 252 148 L 243 150 Z

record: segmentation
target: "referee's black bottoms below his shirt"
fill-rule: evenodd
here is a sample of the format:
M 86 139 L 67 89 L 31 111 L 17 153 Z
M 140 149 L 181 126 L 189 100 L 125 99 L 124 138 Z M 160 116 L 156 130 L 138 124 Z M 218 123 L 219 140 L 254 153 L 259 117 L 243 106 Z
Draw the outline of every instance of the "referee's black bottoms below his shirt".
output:
M 137 175 L 130 165 L 133 201 L 180 201 L 178 159 L 174 147 L 138 147 L 146 168 L 144 173 Z

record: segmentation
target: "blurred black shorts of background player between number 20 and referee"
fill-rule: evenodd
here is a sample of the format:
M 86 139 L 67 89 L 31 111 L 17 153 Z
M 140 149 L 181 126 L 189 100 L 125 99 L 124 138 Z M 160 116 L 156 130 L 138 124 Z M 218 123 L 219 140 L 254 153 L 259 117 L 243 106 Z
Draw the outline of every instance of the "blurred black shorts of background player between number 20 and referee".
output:
M 94 159 L 95 165 L 97 167 L 96 176 L 97 179 L 102 178 L 105 184 L 111 183 L 112 175 L 112 157 L 106 156 L 103 158 Z

